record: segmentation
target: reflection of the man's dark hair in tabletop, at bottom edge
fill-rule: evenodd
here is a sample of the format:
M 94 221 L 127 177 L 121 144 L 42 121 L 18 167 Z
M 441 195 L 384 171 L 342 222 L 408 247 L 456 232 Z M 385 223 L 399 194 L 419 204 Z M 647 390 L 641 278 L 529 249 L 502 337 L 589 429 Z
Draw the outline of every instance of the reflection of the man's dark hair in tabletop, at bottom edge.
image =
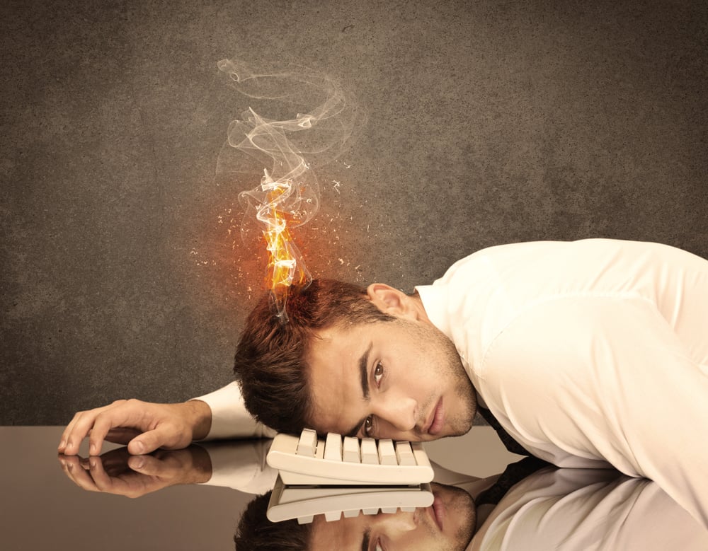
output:
M 312 524 L 298 524 L 297 518 L 270 522 L 265 516 L 270 493 L 256 497 L 246 506 L 234 534 L 236 551 L 306 551 Z

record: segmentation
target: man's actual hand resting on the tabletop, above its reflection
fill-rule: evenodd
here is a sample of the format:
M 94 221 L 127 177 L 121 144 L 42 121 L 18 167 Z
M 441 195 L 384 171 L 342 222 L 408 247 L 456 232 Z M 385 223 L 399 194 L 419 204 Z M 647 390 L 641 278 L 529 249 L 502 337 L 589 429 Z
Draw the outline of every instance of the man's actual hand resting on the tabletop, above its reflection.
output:
M 212 411 L 201 400 L 180 404 L 154 404 L 141 400 L 118 400 L 94 410 L 78 412 L 59 443 L 59 453 L 79 453 L 81 441 L 89 436 L 89 453 L 101 453 L 103 441 L 127 443 L 132 454 L 157 448 L 186 448 L 193 440 L 207 436 Z

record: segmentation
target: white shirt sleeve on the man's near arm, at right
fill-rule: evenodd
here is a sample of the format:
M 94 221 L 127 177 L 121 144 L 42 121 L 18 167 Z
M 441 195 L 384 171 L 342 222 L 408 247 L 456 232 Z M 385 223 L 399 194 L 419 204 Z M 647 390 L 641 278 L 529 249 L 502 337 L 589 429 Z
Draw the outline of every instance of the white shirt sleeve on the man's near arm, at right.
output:
M 548 301 L 491 344 L 485 400 L 536 455 L 604 459 L 708 527 L 708 371 L 689 344 L 644 298 Z

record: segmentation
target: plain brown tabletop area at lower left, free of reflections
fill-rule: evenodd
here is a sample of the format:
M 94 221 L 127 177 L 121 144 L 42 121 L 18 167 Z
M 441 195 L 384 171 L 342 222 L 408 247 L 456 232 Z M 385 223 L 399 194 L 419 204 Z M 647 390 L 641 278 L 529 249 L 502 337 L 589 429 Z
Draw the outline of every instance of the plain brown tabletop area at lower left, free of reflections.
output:
M 57 460 L 62 430 L 0 427 L 2 549 L 234 549 L 236 523 L 253 496 L 202 485 L 137 499 L 86 492 L 64 475 Z

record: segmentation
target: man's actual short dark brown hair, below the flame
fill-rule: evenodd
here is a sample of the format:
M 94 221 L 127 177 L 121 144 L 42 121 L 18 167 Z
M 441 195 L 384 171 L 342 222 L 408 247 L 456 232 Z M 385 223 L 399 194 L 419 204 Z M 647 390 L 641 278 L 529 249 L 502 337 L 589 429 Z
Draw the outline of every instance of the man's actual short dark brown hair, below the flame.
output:
M 234 373 L 253 417 L 277 431 L 298 433 L 312 415 L 304 356 L 315 332 L 395 318 L 380 311 L 363 287 L 331 279 L 292 289 L 286 312 L 287 323 L 280 323 L 270 296 L 258 301 L 236 348 Z

